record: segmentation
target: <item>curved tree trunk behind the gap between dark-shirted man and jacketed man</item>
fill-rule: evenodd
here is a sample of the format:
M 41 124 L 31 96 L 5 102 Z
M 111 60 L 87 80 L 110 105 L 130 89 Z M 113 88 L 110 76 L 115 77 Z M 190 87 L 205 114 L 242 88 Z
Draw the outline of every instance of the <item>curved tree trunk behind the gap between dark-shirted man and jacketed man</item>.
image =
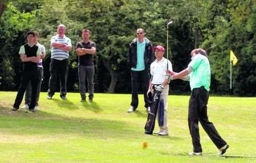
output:
M 108 88 L 108 93 L 114 93 L 115 92 L 115 85 L 117 83 L 118 74 L 110 68 L 108 60 L 103 59 L 102 61 L 103 61 L 103 64 L 104 64 L 105 68 L 109 71 L 110 76 L 111 76 L 110 85 L 109 85 L 109 88 Z

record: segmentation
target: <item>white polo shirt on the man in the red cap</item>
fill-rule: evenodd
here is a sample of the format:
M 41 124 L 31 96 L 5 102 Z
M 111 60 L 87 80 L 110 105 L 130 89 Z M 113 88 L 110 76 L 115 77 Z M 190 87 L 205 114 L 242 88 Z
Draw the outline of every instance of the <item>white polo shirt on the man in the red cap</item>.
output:
M 167 61 L 168 70 L 172 71 L 171 61 L 164 57 L 160 61 L 155 60 L 150 65 L 150 74 L 153 76 L 152 84 L 161 84 L 166 80 Z

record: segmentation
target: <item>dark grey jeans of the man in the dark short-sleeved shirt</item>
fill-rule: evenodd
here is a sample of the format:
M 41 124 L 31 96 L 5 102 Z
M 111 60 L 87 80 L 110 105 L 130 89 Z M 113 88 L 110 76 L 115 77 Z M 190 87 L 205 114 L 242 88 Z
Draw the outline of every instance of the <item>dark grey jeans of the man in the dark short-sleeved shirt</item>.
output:
M 88 91 L 89 91 L 89 98 L 93 98 L 94 92 L 94 65 L 93 66 L 82 66 L 79 65 L 78 67 L 79 73 L 79 91 L 81 95 L 85 95 L 86 93 L 86 79 L 88 82 Z

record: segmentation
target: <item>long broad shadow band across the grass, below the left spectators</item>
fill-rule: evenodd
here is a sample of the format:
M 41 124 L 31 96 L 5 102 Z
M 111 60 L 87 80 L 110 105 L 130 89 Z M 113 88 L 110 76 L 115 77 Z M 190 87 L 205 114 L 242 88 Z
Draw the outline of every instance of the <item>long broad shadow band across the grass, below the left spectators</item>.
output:
M 42 110 L 32 113 L 27 110 L 11 111 L 0 107 L 0 128 L 16 135 L 81 135 L 89 137 L 114 137 L 115 139 L 133 139 L 130 134 L 142 133 L 129 123 L 121 120 L 97 118 L 71 118 L 51 114 Z

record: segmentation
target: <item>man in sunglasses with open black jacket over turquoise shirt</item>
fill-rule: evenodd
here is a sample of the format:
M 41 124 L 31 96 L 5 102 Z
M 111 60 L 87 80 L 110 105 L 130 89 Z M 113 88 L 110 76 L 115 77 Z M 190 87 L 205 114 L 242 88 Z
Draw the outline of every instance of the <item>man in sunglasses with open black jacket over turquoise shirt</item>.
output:
M 131 106 L 127 112 L 133 112 L 138 107 L 138 90 L 142 87 L 144 94 L 144 107 L 150 111 L 150 101 L 147 97 L 147 87 L 150 80 L 150 64 L 155 60 L 152 54 L 152 45 L 145 36 L 142 28 L 137 30 L 137 38 L 130 43 L 128 64 L 131 67 Z

